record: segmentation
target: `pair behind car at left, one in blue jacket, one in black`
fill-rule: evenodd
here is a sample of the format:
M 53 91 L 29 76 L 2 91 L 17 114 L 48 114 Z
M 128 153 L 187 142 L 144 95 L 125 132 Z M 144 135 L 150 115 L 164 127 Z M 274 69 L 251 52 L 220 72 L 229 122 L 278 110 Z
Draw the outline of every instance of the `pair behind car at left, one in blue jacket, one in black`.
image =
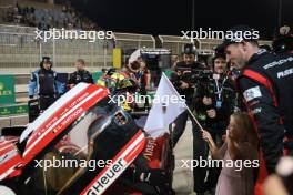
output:
M 82 59 L 77 60 L 74 64 L 77 71 L 69 76 L 68 74 L 58 74 L 53 71 L 51 59 L 43 57 L 40 68 L 31 73 L 28 85 L 29 98 L 31 100 L 29 102 L 30 122 L 78 83 L 93 83 L 92 74 L 85 70 L 85 62 Z

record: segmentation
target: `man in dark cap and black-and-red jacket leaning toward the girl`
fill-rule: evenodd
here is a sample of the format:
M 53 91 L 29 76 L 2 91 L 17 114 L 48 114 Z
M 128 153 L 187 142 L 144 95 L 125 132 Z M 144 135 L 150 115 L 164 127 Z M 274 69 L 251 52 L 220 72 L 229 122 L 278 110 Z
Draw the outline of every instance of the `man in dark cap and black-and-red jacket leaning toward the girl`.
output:
M 239 25 L 231 31 L 253 30 Z M 277 161 L 287 152 L 293 154 L 293 55 L 260 50 L 257 40 L 247 38 L 239 42 L 225 39 L 222 47 L 230 59 L 238 61 L 239 90 L 257 127 L 261 166 L 266 167 L 260 168 L 261 187 L 267 173 L 275 171 Z

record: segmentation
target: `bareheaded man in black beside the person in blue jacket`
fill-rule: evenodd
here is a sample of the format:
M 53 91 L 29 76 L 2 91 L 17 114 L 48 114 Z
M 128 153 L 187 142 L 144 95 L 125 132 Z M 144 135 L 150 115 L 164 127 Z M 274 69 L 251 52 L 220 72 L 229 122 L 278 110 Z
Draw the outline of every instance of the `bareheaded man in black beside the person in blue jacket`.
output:
M 73 88 L 80 82 L 93 83 L 92 74 L 84 69 L 85 62 L 82 59 L 78 59 L 75 62 L 77 71 L 70 74 L 68 85 L 69 89 Z

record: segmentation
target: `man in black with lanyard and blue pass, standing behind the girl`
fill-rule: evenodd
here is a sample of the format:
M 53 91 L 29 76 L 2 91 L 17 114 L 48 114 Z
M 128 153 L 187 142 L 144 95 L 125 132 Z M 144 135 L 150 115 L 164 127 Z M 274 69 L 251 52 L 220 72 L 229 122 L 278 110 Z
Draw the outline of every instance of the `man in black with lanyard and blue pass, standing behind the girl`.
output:
M 222 136 L 233 113 L 235 89 L 233 81 L 228 76 L 225 54 L 216 52 L 212 64 L 213 72 L 201 75 L 195 93 L 195 117 L 206 130 L 219 147 L 222 146 Z M 202 138 L 202 132 L 193 126 L 193 158 L 208 160 L 209 147 Z M 209 176 L 208 175 L 209 170 Z M 194 167 L 194 192 L 203 194 L 205 191 L 213 192 L 221 168 Z

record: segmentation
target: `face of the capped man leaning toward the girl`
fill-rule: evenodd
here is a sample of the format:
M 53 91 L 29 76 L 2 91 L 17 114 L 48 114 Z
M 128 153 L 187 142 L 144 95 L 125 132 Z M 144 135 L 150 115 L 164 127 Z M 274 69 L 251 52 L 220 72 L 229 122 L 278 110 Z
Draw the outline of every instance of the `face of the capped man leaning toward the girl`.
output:
M 242 47 L 243 47 L 242 44 L 235 43 L 235 44 L 229 44 L 225 48 L 228 60 L 236 62 L 235 69 L 238 69 L 238 70 L 241 70 L 245 64 L 244 53 L 243 53 Z

